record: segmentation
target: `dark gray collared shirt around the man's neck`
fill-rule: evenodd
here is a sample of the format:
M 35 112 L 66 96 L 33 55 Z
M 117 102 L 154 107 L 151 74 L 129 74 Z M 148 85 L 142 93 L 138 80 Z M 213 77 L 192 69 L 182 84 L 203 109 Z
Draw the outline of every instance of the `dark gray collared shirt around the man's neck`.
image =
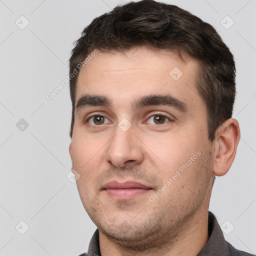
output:
M 209 211 L 208 214 L 209 240 L 197 256 L 249 256 L 247 252 L 235 249 L 225 241 L 222 230 L 215 218 Z M 87 253 L 79 256 L 101 256 L 99 251 L 98 229 L 94 232 Z

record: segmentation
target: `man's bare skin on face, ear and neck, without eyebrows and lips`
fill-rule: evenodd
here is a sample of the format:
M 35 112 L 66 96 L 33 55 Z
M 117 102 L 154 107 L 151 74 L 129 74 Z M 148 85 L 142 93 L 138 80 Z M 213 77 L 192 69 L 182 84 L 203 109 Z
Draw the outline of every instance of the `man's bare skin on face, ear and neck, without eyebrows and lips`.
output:
M 205 103 L 195 86 L 198 63 L 183 57 L 184 62 L 173 52 L 137 47 L 99 52 L 80 70 L 76 102 L 84 94 L 111 100 L 110 107 L 76 111 L 69 146 L 81 201 L 99 229 L 102 256 L 197 255 L 207 243 L 213 178 L 231 166 L 239 125 L 236 119 L 226 120 L 209 141 Z M 169 75 L 174 67 L 183 73 L 177 80 Z M 134 98 L 150 94 L 172 95 L 187 111 L 166 105 L 131 107 Z M 154 119 L 159 114 L 166 116 L 160 124 Z M 93 115 L 106 118 L 95 124 L 89 119 Z M 123 118 L 131 125 L 126 131 L 118 126 Z M 198 151 L 200 156 L 150 201 Z M 111 180 L 138 181 L 151 189 L 120 200 L 102 190 Z

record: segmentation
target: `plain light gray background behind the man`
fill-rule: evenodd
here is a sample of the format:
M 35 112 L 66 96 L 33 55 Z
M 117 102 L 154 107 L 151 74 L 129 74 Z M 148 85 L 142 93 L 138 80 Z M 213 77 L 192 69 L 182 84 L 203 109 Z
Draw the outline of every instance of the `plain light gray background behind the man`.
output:
M 74 255 L 87 251 L 95 225 L 71 169 L 68 85 L 46 98 L 66 75 L 72 42 L 84 26 L 120 0 L 0 0 L 0 255 Z M 217 177 L 210 210 L 234 229 L 225 238 L 256 253 L 255 13 L 256 0 L 165 0 L 212 24 L 234 54 L 241 128 L 237 156 Z M 20 29 L 16 25 L 29 24 Z M 229 26 L 230 19 L 234 24 Z M 222 24 L 220 23 L 222 21 Z M 29 124 L 16 123 L 24 118 Z M 22 122 L 22 121 L 21 121 Z M 29 229 L 25 231 L 25 224 Z M 15 226 L 17 226 L 15 228 Z M 223 229 L 224 230 L 224 229 Z

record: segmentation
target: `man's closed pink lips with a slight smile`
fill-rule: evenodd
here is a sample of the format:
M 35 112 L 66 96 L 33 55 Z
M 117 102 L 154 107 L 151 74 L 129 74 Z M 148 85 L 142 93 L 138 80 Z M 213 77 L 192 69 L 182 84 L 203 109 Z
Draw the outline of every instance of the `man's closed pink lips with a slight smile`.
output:
M 108 196 L 119 200 L 133 199 L 147 193 L 151 189 L 152 188 L 147 185 L 131 180 L 122 183 L 110 181 L 103 187 L 103 191 L 105 191 Z

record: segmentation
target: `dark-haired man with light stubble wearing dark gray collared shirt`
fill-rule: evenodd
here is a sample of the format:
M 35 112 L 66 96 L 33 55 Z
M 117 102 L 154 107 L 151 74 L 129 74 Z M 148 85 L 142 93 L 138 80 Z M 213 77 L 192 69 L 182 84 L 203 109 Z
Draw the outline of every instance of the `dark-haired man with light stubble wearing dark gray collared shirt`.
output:
M 97 230 L 82 255 L 250 255 L 208 212 L 235 157 L 233 56 L 215 29 L 153 0 L 95 18 L 70 57 L 69 153 Z

